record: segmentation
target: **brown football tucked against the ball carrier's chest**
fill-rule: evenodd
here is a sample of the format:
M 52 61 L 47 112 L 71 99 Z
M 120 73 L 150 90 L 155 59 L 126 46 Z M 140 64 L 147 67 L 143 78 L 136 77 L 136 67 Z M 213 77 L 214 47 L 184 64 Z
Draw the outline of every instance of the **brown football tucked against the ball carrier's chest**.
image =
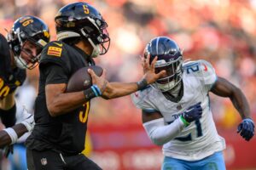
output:
M 91 65 L 86 66 L 76 71 L 68 80 L 66 92 L 79 92 L 90 88 L 92 85 L 92 79 L 88 69 L 93 70 L 98 77 L 102 76 L 102 67 Z

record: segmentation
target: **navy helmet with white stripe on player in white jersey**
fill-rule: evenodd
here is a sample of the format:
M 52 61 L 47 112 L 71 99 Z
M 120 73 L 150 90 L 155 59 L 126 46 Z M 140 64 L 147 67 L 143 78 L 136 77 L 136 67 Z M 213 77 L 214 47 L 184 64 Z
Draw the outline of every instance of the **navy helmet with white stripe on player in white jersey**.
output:
M 182 80 L 183 74 L 183 52 L 177 43 L 169 37 L 155 37 L 144 49 L 144 57 L 150 55 L 151 63 L 155 56 L 158 57 L 155 64 L 155 72 L 166 70 L 166 77 L 154 82 L 154 86 L 162 92 L 175 88 Z

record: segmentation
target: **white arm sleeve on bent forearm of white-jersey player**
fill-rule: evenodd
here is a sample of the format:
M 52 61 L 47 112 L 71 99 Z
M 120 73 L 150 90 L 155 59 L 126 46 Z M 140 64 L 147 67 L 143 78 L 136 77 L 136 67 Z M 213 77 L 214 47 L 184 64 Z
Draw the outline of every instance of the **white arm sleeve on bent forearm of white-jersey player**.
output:
M 162 145 L 176 138 L 185 125 L 179 117 L 169 125 L 165 125 L 164 118 L 160 118 L 143 123 L 143 127 L 154 144 Z

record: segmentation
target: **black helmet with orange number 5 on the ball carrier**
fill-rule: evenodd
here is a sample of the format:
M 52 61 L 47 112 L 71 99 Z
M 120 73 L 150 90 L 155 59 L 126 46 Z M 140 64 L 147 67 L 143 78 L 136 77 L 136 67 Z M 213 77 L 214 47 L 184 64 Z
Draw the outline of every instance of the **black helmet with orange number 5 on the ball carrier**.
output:
M 106 54 L 110 45 L 108 24 L 102 14 L 88 3 L 70 3 L 55 16 L 57 39 L 84 38 L 93 47 L 92 57 Z

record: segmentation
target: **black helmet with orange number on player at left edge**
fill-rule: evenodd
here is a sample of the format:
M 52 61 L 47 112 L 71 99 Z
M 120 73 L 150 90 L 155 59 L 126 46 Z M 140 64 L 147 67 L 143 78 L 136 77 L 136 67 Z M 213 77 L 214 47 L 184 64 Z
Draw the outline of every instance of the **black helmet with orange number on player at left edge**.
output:
M 15 20 L 12 30 L 7 36 L 9 46 L 15 54 L 16 65 L 21 69 L 32 69 L 38 65 L 38 59 L 44 46 L 49 42 L 49 28 L 38 17 L 26 15 Z M 30 63 L 26 63 L 20 56 L 26 41 L 37 47 L 37 56 L 33 56 Z

